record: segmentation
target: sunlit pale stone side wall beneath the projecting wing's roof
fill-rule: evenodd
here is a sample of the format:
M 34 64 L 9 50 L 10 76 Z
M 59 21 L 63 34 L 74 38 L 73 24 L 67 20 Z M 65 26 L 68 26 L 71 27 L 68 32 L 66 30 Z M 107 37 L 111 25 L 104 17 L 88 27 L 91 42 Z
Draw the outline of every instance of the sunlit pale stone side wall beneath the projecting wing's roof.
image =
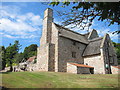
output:
M 94 74 L 105 74 L 104 61 L 101 59 L 101 55 L 84 57 L 84 64 L 94 67 Z

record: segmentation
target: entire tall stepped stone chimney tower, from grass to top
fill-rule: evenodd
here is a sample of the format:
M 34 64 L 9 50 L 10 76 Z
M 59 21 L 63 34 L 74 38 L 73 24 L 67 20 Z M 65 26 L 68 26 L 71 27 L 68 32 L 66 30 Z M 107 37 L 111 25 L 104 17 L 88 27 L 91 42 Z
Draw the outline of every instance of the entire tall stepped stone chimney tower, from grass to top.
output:
M 37 68 L 39 71 L 54 71 L 55 45 L 52 39 L 53 11 L 47 8 L 44 12 L 42 37 L 37 50 Z M 52 53 L 51 53 L 52 52 Z

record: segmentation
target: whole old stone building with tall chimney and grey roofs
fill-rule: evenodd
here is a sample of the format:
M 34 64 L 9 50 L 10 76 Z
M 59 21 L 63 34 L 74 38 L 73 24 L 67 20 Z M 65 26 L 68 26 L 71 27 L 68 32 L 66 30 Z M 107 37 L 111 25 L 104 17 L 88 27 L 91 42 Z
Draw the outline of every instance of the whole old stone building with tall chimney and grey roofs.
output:
M 53 22 L 53 11 L 44 12 L 43 31 L 37 50 L 39 71 L 107 74 L 117 58 L 110 37 L 96 30 L 80 34 Z

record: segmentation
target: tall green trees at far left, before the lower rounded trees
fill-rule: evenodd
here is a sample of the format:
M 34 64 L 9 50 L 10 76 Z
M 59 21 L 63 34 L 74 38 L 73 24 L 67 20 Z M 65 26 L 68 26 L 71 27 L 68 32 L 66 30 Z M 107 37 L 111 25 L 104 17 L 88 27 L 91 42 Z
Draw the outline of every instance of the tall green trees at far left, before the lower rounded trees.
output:
M 5 69 L 6 66 L 10 66 L 10 71 L 12 71 L 12 64 L 16 63 L 14 59 L 15 55 L 18 54 L 21 45 L 19 41 L 15 41 L 14 44 L 10 44 L 8 47 L 1 46 L 1 55 L 2 55 L 2 70 Z

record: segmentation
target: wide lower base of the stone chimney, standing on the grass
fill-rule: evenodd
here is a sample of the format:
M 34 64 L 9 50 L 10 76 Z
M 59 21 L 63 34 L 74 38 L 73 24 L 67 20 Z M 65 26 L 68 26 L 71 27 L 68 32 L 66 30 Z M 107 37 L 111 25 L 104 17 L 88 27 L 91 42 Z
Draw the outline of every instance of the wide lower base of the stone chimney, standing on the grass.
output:
M 38 48 L 37 67 L 39 71 L 55 71 L 55 45 L 47 43 Z

